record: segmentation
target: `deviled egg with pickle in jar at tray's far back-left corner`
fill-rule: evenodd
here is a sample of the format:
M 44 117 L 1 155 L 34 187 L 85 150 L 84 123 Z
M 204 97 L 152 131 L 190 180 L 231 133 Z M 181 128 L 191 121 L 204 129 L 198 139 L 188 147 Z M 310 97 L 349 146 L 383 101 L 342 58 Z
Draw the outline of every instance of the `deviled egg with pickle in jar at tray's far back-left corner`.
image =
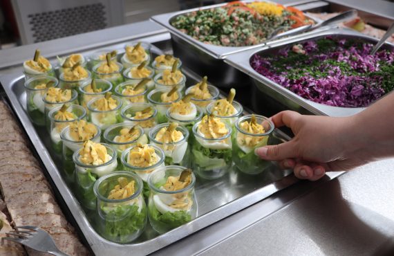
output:
M 41 52 L 39 50 L 35 51 L 35 55 L 32 60 L 26 60 L 26 62 L 24 62 L 24 74 L 25 80 L 28 80 L 35 75 L 55 75 L 52 65 L 45 57 L 41 56 Z

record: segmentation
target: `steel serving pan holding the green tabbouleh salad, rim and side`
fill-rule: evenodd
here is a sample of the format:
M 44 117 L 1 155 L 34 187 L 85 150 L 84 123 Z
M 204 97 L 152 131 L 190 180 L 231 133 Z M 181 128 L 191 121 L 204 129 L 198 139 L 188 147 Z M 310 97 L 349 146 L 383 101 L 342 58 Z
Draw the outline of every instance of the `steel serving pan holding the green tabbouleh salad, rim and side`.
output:
M 250 3 L 252 1 L 243 2 Z M 271 1 L 266 2 L 271 3 Z M 169 30 L 171 33 L 171 42 L 174 55 L 180 57 L 180 59 L 185 64 L 188 64 L 190 68 L 193 68 L 194 71 L 208 75 L 209 80 L 219 87 L 245 87 L 248 85 L 245 84 L 245 81 L 248 81 L 247 76 L 238 72 L 235 68 L 232 68 L 232 66 L 224 65 L 222 60 L 225 59 L 227 55 L 239 53 L 251 48 L 259 48 L 264 45 L 274 44 L 275 42 L 286 42 L 288 38 L 263 42 L 254 46 L 214 46 L 212 44 L 204 44 L 203 42 L 199 42 L 197 39 L 182 33 L 180 30 L 178 30 L 178 28 L 175 28 L 171 25 L 171 21 L 173 21 L 173 19 L 175 19 L 178 15 L 185 15 L 196 10 L 218 8 L 225 6 L 226 4 L 227 3 L 220 3 L 213 6 L 182 10 L 180 12 L 169 12 L 162 15 L 155 15 L 151 17 L 151 19 Z M 306 15 L 306 17 L 312 21 L 315 21 L 316 24 L 321 22 L 320 19 L 316 19 L 308 15 Z M 327 28 L 319 28 L 318 30 L 326 29 Z M 309 33 L 316 33 L 316 31 Z M 294 35 L 294 37 L 297 36 Z

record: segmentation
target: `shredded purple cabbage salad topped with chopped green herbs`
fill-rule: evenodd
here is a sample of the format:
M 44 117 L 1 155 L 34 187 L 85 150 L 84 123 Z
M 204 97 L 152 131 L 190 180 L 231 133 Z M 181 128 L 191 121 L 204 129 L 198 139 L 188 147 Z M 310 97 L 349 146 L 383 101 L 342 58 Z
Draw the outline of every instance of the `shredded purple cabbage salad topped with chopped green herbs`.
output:
M 261 75 L 313 102 L 335 107 L 367 107 L 394 87 L 394 52 L 352 39 L 325 37 L 254 55 Z

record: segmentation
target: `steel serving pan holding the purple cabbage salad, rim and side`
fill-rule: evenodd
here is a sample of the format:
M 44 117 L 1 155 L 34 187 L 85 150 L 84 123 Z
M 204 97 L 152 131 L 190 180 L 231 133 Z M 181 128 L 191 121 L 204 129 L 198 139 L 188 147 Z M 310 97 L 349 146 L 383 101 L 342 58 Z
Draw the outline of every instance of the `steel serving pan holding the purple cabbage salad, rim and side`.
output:
M 272 102 L 272 104 L 277 104 L 276 109 L 279 110 L 291 109 L 300 113 L 313 113 L 316 115 L 337 117 L 352 116 L 355 113 L 359 113 L 360 111 L 364 110 L 365 108 L 332 107 L 306 100 L 296 93 L 293 93 L 276 82 L 268 79 L 268 77 L 261 75 L 255 71 L 252 66 L 250 66 L 250 59 L 256 53 L 262 56 L 268 55 L 276 53 L 281 48 L 290 46 L 294 43 L 302 43 L 309 40 L 320 39 L 326 36 L 339 37 L 343 39 L 361 39 L 365 42 L 370 42 L 373 44 L 376 44 L 379 41 L 374 37 L 369 37 L 362 33 L 358 33 L 355 30 L 333 28 L 330 30 L 321 31 L 314 35 L 303 35 L 302 37 L 288 39 L 287 42 L 277 42 L 276 44 L 272 44 L 270 46 L 264 46 L 262 48 L 251 49 L 242 53 L 229 55 L 225 59 L 225 62 L 239 71 L 242 71 L 246 75 L 249 75 L 254 82 L 254 91 L 256 92 L 256 95 L 252 98 L 252 106 L 254 111 L 259 111 L 261 109 L 259 102 Z M 394 51 L 393 44 L 386 43 L 383 47 Z

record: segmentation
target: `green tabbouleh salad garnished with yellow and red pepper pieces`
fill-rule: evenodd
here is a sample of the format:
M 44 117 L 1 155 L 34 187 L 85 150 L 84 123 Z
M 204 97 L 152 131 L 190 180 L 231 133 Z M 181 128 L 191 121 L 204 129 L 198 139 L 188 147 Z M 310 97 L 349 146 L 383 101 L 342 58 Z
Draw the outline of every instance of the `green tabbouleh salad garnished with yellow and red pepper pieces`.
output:
M 261 44 L 276 29 L 313 23 L 296 8 L 276 3 L 235 1 L 226 6 L 178 15 L 171 25 L 200 42 L 217 46 Z

